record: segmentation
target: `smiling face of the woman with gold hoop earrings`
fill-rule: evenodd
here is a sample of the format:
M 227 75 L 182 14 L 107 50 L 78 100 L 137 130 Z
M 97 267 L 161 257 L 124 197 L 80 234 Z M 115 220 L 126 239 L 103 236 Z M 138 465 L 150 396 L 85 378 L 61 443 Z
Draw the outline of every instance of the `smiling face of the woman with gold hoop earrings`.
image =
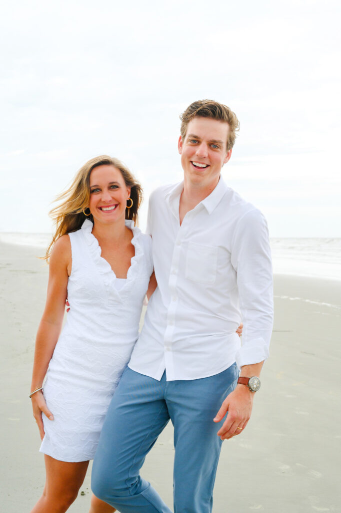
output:
M 119 169 L 113 165 L 95 167 L 90 173 L 89 208 L 94 223 L 124 222 L 130 187 L 125 185 Z

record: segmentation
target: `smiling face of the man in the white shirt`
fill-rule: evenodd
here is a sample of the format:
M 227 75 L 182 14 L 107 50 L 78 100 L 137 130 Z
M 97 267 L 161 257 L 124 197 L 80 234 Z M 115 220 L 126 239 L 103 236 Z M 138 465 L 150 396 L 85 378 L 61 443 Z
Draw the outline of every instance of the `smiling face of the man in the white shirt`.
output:
M 185 180 L 191 185 L 216 187 L 221 168 L 231 156 L 231 150 L 226 150 L 228 130 L 227 123 L 209 117 L 195 117 L 188 123 L 178 148 Z

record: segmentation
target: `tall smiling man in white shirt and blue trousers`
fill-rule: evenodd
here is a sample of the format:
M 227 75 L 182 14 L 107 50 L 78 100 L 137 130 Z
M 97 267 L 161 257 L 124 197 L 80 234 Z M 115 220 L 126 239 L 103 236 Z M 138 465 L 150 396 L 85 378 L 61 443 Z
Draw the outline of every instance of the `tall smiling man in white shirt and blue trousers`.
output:
M 184 182 L 157 189 L 148 213 L 158 288 L 93 466 L 95 495 L 122 513 L 170 512 L 139 476 L 169 419 L 174 511 L 211 511 L 222 440 L 245 428 L 268 357 L 272 272 L 266 222 L 220 176 L 238 119 L 228 107 L 204 100 L 191 104 L 181 120 Z M 242 347 L 235 332 L 241 318 Z

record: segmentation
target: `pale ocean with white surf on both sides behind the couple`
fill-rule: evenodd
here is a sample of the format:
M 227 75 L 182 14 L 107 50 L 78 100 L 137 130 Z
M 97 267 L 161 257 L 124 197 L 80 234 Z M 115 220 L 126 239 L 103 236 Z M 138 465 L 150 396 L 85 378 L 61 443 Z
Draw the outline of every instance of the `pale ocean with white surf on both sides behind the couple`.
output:
M 0 242 L 33 246 L 41 256 L 49 233 L 0 233 Z M 274 274 L 289 274 L 341 281 L 341 239 L 270 239 Z

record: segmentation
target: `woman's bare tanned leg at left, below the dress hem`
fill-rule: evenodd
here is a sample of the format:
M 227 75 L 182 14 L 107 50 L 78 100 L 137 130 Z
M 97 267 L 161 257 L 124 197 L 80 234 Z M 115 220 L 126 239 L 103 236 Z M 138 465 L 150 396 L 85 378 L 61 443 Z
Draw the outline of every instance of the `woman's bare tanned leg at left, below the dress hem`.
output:
M 68 463 L 45 455 L 45 487 L 31 513 L 47 513 L 47 511 L 64 513 L 67 511 L 78 495 L 88 465 L 89 461 Z

